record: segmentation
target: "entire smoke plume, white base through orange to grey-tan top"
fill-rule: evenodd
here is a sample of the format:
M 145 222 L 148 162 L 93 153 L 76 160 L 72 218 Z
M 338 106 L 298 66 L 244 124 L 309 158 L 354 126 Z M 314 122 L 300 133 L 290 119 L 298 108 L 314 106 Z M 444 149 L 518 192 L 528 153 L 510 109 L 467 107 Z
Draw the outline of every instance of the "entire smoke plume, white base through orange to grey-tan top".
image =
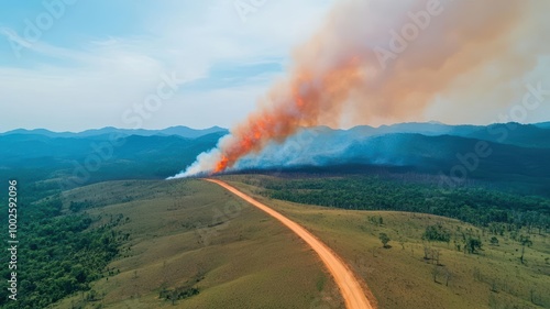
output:
M 340 1 L 257 110 L 176 177 L 223 172 L 300 126 L 495 118 L 548 56 L 549 11 L 537 0 Z

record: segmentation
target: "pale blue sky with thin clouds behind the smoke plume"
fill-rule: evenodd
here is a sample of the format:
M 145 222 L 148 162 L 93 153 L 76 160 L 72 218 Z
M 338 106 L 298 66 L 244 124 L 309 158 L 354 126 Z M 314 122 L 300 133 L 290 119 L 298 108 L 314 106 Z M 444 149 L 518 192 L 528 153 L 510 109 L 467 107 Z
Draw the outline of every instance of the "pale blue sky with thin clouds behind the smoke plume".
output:
M 231 128 L 334 2 L 0 0 L 0 132 Z M 421 120 L 450 122 L 437 109 Z M 548 120 L 544 107 L 525 122 Z

